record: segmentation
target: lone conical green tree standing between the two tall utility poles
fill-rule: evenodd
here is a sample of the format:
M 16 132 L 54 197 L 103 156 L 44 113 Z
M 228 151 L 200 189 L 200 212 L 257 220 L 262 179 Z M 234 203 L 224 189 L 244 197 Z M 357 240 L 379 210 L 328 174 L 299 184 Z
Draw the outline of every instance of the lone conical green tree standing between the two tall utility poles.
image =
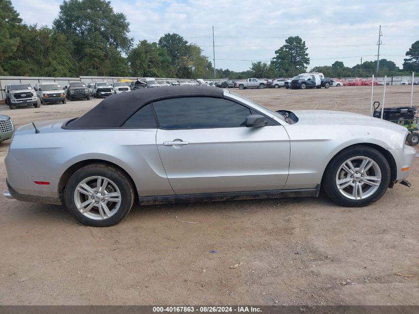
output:
M 299 36 L 290 36 L 285 40 L 285 45 L 275 51 L 274 64 L 280 76 L 294 76 L 304 72 L 310 63 L 305 41 Z

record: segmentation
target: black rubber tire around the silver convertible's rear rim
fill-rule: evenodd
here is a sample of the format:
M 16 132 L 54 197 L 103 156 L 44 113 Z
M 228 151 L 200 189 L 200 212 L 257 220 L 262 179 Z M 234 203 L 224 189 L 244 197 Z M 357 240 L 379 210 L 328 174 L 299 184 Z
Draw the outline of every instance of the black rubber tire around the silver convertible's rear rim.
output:
M 95 220 L 83 215 L 76 207 L 74 192 L 79 183 L 84 179 L 101 176 L 111 180 L 120 190 L 120 207 L 109 218 Z M 86 195 L 86 197 L 89 197 Z M 64 202 L 67 209 L 75 219 L 83 225 L 90 227 L 110 227 L 119 223 L 131 210 L 134 203 L 134 186 L 120 169 L 103 164 L 91 164 L 77 170 L 68 180 L 64 190 Z M 112 210 L 112 209 L 111 209 Z

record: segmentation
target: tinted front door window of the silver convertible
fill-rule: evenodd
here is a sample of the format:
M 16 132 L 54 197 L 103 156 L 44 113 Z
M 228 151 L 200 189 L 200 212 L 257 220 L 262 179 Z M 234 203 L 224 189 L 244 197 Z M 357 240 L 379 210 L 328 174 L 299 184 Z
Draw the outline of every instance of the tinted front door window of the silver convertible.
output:
M 227 99 L 182 97 L 153 102 L 160 127 L 166 129 L 239 127 L 250 115 L 247 107 Z

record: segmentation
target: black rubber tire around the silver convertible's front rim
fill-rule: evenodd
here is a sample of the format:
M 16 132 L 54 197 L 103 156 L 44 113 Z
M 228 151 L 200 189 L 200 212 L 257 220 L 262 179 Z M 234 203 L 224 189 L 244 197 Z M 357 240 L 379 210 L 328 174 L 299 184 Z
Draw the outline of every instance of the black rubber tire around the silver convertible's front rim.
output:
M 350 199 L 347 196 L 344 196 L 343 193 L 341 193 L 341 191 L 337 187 L 337 183 L 336 183 L 337 175 L 338 175 L 337 173 L 340 170 L 341 165 L 345 161 L 349 160 L 350 158 L 358 157 L 358 156 L 367 157 L 369 159 L 372 159 L 375 162 L 375 164 L 377 165 L 377 167 L 379 168 L 381 172 L 381 181 L 379 183 L 378 188 L 373 193 L 371 193 L 371 195 L 365 198 L 361 198 L 361 199 Z M 372 169 L 368 171 L 375 171 L 375 170 Z M 360 173 L 358 175 L 363 176 Z M 370 173 L 368 173 L 367 175 L 370 176 Z M 349 173 L 347 174 L 347 178 L 349 179 Z M 334 202 L 336 202 L 337 204 L 341 206 L 363 207 L 377 201 L 378 199 L 381 198 L 381 196 L 383 196 L 383 194 L 385 193 L 385 191 L 387 190 L 390 184 L 390 178 L 391 178 L 390 166 L 387 160 L 385 159 L 385 157 L 374 148 L 359 145 L 359 146 L 350 147 L 340 152 L 332 159 L 332 161 L 329 163 L 329 165 L 327 166 L 327 169 L 324 172 L 322 188 L 325 191 L 325 193 L 330 197 L 330 199 L 332 199 Z M 362 181 L 362 178 L 351 179 L 351 180 Z M 353 181 L 352 183 L 354 182 L 355 181 Z M 372 186 L 369 186 L 365 183 L 363 183 L 363 185 L 365 187 L 373 188 Z M 354 187 L 348 187 L 348 188 L 352 189 L 353 191 Z M 342 190 L 344 190 L 344 188 L 342 188 Z M 366 192 L 368 192 L 368 190 L 366 190 Z

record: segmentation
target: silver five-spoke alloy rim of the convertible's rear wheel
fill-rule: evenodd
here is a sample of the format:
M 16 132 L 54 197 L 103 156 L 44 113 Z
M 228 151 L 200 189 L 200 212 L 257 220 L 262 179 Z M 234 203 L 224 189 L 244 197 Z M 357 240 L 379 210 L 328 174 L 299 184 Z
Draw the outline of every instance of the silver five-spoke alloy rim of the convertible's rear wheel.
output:
M 120 208 L 121 193 L 118 186 L 108 178 L 93 176 L 81 181 L 74 190 L 74 204 L 84 216 L 105 220 Z

